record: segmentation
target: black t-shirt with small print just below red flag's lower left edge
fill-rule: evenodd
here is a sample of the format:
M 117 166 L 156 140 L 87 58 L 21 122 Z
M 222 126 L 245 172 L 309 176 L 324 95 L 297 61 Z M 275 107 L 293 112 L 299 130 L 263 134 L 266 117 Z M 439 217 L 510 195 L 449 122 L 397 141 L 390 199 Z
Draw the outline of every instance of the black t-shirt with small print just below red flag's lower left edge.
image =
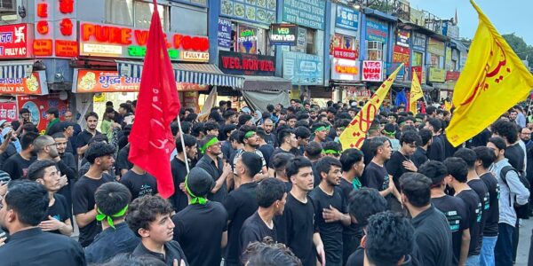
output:
M 120 178 L 120 183 L 130 190 L 131 200 L 157 193 L 157 181 L 148 173 L 139 175 L 129 170 Z

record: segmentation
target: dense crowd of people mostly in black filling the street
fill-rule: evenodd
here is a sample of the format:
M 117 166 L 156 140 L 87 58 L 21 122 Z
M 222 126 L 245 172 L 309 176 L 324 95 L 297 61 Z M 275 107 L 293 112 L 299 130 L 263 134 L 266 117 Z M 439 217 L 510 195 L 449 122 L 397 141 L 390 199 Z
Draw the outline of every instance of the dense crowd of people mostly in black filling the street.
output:
M 443 107 L 381 106 L 361 149 L 339 136 L 362 102 L 182 108 L 163 199 L 128 160 L 135 105 L 0 121 L 0 265 L 510 266 L 529 233 L 521 106 L 458 147 Z

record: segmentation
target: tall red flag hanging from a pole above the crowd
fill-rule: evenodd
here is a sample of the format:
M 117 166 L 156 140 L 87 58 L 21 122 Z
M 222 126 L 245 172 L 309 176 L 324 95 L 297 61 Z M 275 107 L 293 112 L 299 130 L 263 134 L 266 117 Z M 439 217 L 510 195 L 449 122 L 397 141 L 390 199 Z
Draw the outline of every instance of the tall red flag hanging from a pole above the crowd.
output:
M 154 0 L 128 159 L 155 176 L 157 192 L 163 198 L 174 193 L 169 159 L 175 148 L 171 121 L 178 116 L 179 106 L 171 59 Z

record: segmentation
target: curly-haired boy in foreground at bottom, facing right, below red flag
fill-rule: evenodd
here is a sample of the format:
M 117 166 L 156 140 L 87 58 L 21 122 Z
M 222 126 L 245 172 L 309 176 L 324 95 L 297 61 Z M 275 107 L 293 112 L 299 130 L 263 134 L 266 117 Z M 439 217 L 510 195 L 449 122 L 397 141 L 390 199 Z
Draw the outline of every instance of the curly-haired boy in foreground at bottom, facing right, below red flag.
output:
M 133 256 L 153 256 L 167 266 L 188 265 L 181 246 L 172 240 L 172 212 L 171 203 L 160 196 L 146 196 L 131 202 L 126 223 L 141 239 L 131 253 Z

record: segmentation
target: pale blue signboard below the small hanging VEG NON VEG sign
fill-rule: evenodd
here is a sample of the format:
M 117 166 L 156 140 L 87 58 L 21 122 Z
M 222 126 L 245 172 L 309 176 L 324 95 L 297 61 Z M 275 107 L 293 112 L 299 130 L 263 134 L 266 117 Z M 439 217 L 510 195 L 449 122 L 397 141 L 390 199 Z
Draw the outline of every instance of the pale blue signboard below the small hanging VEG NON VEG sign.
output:
M 283 51 L 283 78 L 293 85 L 323 85 L 323 59 L 312 54 Z

